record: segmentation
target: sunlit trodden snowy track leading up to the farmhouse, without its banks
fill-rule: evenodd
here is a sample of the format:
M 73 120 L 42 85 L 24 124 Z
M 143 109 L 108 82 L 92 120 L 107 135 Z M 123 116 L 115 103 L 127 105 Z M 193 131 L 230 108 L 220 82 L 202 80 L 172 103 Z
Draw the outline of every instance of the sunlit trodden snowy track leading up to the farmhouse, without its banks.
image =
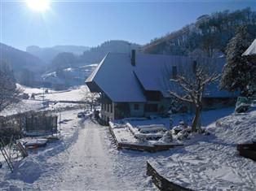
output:
M 113 173 L 115 164 L 107 153 L 102 128 L 86 120 L 77 142 L 69 150 L 60 189 L 130 189 Z

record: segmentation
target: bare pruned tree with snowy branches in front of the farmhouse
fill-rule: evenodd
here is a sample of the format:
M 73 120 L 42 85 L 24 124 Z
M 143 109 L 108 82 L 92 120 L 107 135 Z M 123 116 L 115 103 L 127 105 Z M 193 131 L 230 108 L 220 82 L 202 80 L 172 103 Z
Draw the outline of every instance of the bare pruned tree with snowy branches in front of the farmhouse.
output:
M 191 102 L 196 115 L 192 121 L 192 132 L 196 132 L 201 110 L 202 97 L 207 85 L 218 80 L 218 59 L 191 59 L 179 64 L 179 72 L 170 77 L 173 88 L 168 90 L 170 95 L 184 102 Z M 175 87 L 175 88 L 174 88 Z M 179 90 L 180 89 L 180 90 Z

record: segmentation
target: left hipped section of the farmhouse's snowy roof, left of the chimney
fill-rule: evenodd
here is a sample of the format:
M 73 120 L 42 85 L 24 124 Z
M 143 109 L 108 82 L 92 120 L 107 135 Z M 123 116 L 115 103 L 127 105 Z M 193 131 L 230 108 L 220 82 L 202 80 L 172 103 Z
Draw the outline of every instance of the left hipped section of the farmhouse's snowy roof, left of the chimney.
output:
M 113 102 L 146 102 L 130 54 L 108 53 L 86 82 L 94 81 Z

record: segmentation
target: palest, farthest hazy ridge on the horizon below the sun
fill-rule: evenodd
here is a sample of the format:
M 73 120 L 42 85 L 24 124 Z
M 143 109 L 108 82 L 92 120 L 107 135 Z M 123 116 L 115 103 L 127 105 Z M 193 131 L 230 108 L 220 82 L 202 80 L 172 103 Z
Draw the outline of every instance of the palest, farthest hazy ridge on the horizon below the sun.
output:
M 71 52 L 75 55 L 81 55 L 84 51 L 90 50 L 89 46 L 53 46 L 41 48 L 39 46 L 28 46 L 26 51 L 30 54 L 38 56 L 47 63 L 51 63 L 51 60 L 61 52 Z

